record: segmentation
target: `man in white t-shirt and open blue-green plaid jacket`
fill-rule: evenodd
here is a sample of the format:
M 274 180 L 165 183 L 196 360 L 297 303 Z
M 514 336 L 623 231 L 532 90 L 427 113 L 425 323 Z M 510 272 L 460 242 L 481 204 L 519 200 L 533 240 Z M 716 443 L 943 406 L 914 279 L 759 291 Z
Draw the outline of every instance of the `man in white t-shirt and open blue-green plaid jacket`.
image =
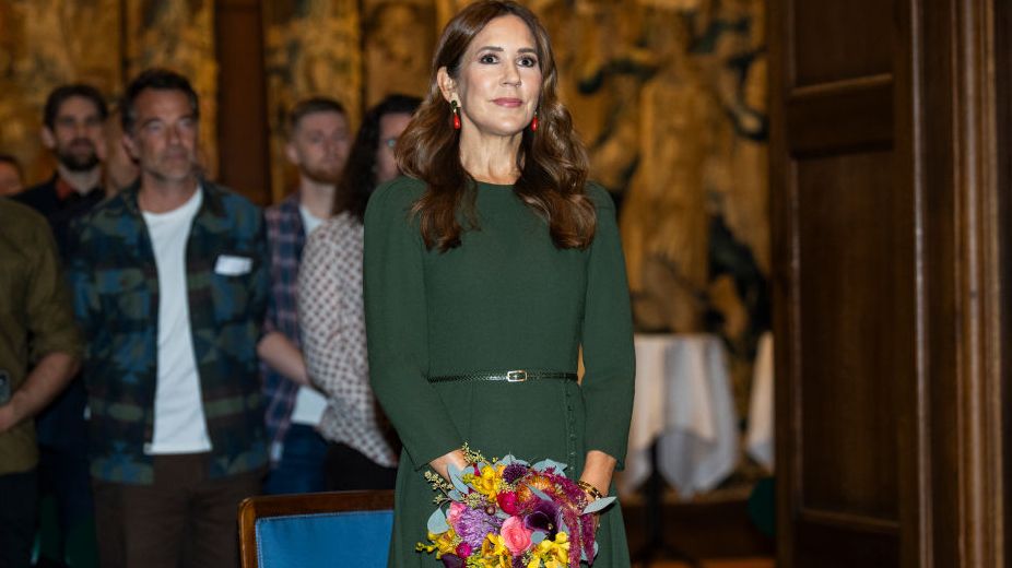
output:
M 140 180 L 82 218 L 70 256 L 102 566 L 237 566 L 236 509 L 268 453 L 262 212 L 201 179 L 186 78 L 142 72 L 122 122 Z

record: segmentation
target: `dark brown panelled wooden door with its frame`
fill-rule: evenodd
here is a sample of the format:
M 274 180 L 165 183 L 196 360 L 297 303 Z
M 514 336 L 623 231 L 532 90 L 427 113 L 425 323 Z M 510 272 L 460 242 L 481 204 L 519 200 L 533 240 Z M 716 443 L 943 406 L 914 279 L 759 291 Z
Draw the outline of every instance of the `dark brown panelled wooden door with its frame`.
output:
M 770 0 L 780 566 L 1007 563 L 1008 4 Z

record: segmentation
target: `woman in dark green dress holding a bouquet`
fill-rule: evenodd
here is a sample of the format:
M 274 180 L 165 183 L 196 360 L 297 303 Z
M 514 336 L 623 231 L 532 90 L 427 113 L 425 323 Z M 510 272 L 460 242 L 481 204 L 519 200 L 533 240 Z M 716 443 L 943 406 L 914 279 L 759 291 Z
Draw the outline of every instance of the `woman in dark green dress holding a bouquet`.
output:
M 548 34 L 514 2 L 447 24 L 433 81 L 397 145 L 408 178 L 365 217 L 373 389 L 403 441 L 390 566 L 434 510 L 427 470 L 486 457 L 552 459 L 613 492 L 633 406 L 634 352 L 614 205 L 556 95 Z M 583 353 L 585 374 L 576 380 Z M 617 505 L 593 565 L 629 565 Z

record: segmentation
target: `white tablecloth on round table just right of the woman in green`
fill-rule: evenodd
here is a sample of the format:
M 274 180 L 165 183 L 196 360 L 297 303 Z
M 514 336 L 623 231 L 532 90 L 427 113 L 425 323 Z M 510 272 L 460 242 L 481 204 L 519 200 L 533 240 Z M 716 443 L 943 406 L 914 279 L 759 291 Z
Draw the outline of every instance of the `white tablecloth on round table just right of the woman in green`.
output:
M 636 399 L 619 490 L 658 469 L 682 497 L 714 488 L 739 459 L 738 416 L 723 344 L 715 335 L 636 335 Z

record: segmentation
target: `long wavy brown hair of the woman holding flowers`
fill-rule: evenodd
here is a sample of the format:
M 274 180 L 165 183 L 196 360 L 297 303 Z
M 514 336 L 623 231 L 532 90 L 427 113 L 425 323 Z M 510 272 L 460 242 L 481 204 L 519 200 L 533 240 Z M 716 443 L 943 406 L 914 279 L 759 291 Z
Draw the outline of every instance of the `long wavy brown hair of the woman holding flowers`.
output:
M 517 153 L 520 177 L 516 194 L 549 224 L 558 248 L 586 248 L 593 240 L 597 217 L 586 196 L 587 151 L 573 130 L 569 111 L 558 102 L 555 57 L 549 34 L 527 8 L 511 1 L 475 2 L 458 13 L 443 31 L 432 62 L 428 95 L 397 143 L 401 171 L 427 185 L 414 203 L 422 238 L 429 249 L 446 251 L 460 246 L 464 230 L 478 228 L 476 184 L 460 163 L 459 131 L 454 130 L 452 110 L 439 91 L 437 73 L 445 67 L 457 79 L 464 52 L 492 20 L 515 15 L 534 36 L 541 66 L 541 100 L 538 131 L 525 128 Z

